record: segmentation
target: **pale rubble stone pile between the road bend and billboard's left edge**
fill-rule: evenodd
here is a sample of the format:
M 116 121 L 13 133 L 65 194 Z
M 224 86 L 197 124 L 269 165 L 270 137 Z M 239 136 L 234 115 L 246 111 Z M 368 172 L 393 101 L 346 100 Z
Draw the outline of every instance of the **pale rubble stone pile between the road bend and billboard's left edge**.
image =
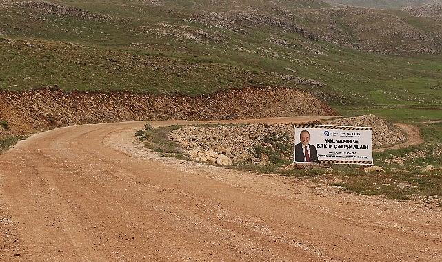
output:
M 169 138 L 176 141 L 188 152 L 192 159 L 210 163 L 227 164 L 248 162 L 266 163 L 268 159 L 253 154 L 253 148 L 260 145 L 270 147 L 269 139 L 285 139 L 285 143 L 294 143 L 292 125 L 217 125 L 185 126 L 172 130 Z M 288 152 L 286 157 L 292 153 Z

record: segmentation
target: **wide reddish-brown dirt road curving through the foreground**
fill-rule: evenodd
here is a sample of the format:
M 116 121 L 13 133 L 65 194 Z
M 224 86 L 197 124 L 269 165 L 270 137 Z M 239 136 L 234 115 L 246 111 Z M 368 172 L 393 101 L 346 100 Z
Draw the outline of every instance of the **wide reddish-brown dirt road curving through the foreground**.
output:
M 144 123 L 0 155 L 0 261 L 442 261 L 441 210 L 158 157 Z

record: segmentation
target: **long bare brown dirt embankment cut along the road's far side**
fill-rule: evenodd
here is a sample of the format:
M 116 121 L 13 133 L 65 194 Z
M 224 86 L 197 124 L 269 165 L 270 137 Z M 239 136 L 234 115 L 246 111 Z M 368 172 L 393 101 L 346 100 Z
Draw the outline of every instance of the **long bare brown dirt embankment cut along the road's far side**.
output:
M 43 88 L 0 92 L 0 137 L 28 135 L 66 125 L 139 120 L 222 120 L 335 115 L 310 92 L 245 88 L 189 96 L 128 92 L 62 92 Z

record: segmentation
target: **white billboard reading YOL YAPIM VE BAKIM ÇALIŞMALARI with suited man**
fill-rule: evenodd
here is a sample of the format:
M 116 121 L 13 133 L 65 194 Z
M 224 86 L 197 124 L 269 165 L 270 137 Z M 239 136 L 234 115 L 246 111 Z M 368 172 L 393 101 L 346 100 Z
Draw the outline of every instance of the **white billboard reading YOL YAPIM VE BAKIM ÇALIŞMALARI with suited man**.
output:
M 294 163 L 373 165 L 372 128 L 295 125 Z

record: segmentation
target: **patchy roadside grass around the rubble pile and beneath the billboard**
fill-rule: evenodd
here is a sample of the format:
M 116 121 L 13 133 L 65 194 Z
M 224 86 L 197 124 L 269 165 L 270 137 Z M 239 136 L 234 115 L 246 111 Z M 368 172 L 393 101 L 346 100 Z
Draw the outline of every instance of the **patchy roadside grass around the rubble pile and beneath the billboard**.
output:
M 344 192 L 379 195 L 389 199 L 416 199 L 436 197 L 442 199 L 442 123 L 421 124 L 425 143 L 399 150 L 387 150 L 373 154 L 374 165 L 383 171 L 365 172 L 358 165 L 313 166 L 301 170 L 283 171 L 292 163 L 293 145 L 287 134 L 271 134 L 264 138 L 267 146 L 254 145 L 249 152 L 261 159 L 265 154 L 268 163 L 257 165 L 235 162 L 227 168 L 258 173 L 281 174 L 283 176 L 325 183 L 341 188 Z M 167 134 L 172 129 L 148 128 L 139 130 L 137 136 L 146 141 L 146 146 L 159 154 L 186 158 L 179 144 L 169 141 Z M 392 161 L 399 159 L 400 161 Z M 424 171 L 432 165 L 431 171 Z M 442 203 L 442 201 L 441 201 Z

